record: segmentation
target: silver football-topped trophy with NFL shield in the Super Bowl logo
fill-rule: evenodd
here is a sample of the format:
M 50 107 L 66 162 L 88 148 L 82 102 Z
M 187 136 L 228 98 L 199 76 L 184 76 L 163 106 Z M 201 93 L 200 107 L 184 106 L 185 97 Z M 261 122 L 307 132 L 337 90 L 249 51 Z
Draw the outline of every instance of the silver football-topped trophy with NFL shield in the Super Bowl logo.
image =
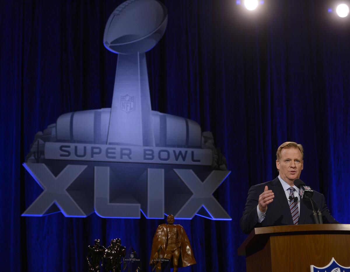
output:
M 154 0 L 126 1 L 107 21 L 103 43 L 119 54 L 107 144 L 155 146 L 145 52 L 167 21 L 165 6 Z

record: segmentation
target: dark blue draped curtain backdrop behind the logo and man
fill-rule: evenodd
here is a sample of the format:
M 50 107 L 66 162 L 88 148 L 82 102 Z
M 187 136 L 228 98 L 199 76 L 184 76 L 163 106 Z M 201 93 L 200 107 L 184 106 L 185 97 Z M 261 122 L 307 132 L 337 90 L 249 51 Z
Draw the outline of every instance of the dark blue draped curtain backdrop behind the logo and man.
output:
M 111 107 L 117 55 L 105 23 L 122 1 L 0 1 L 0 271 L 86 271 L 87 245 L 120 237 L 144 269 L 163 220 L 21 217 L 41 193 L 21 164 L 37 131 L 66 112 Z M 215 197 L 232 221 L 177 220 L 197 265 L 244 271 L 237 248 L 251 185 L 277 176 L 275 151 L 303 144 L 301 179 L 350 223 L 350 20 L 332 1 L 166 0 L 168 27 L 147 53 L 152 108 L 213 132 L 232 171 Z M 333 1 L 333 5 L 334 5 Z

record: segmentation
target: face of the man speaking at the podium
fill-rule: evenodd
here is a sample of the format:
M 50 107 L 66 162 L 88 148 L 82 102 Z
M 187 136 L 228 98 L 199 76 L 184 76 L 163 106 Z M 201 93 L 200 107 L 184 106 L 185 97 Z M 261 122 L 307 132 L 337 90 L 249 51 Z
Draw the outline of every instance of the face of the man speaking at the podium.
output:
M 276 167 L 280 170 L 280 177 L 288 184 L 300 178 L 301 170 L 304 167 L 301 152 L 297 148 L 283 148 L 280 160 L 276 160 Z

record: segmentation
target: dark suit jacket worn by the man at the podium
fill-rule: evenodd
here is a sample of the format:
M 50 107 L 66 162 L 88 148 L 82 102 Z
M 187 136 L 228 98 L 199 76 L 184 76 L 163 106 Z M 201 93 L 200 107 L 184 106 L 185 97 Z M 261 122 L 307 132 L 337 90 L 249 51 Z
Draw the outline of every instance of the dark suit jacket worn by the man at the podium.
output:
M 273 202 L 267 206 L 265 219 L 259 223 L 257 205 L 259 203 L 259 196 L 262 192 L 264 192 L 266 185 L 269 190 L 272 190 L 274 192 L 275 197 L 273 199 Z M 322 193 L 314 191 L 312 198 L 315 200 L 317 206 L 322 212 L 323 223 L 338 223 L 330 215 Z M 315 224 L 310 200 L 300 200 L 298 224 Z M 276 177 L 273 181 L 268 181 L 252 186 L 249 189 L 247 203 L 245 204 L 243 216 L 240 219 L 240 226 L 242 231 L 244 233 L 250 233 L 254 227 L 281 225 L 293 225 L 293 219 L 292 214 L 290 213 L 288 199 L 278 177 Z

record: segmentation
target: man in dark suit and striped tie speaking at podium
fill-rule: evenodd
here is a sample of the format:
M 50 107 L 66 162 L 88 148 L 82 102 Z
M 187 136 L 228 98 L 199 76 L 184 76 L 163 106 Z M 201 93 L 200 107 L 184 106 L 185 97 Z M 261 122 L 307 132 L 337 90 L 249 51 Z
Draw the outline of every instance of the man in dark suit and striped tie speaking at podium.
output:
M 299 188 L 294 181 L 303 170 L 301 144 L 285 142 L 276 153 L 278 177 L 249 189 L 240 226 L 244 233 L 254 227 L 315 224 L 310 200 L 297 199 Z M 322 212 L 323 223 L 338 223 L 329 213 L 324 196 L 314 191 L 313 199 Z

